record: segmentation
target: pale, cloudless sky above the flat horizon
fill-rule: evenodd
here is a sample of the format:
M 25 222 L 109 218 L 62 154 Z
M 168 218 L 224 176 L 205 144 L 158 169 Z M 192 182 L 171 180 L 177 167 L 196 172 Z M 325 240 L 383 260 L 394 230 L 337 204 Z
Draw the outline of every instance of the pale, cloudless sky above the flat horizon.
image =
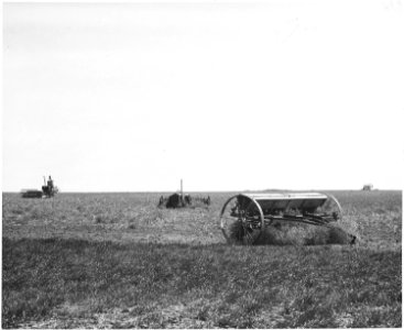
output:
M 402 189 L 403 13 L 4 2 L 2 190 Z

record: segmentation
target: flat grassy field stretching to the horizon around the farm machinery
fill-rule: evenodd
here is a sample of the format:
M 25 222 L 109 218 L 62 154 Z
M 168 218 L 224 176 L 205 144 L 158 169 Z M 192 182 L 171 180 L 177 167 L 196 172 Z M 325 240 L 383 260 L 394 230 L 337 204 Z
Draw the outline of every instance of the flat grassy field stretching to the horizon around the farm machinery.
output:
M 2 327 L 402 327 L 402 193 L 331 193 L 356 245 L 229 246 L 232 193 L 175 210 L 162 194 L 3 193 Z

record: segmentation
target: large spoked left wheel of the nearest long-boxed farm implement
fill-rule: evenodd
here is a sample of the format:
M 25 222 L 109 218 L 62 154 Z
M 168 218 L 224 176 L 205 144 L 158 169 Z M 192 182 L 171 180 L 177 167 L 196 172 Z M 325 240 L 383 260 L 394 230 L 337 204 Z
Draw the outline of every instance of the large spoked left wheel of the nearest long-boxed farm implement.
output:
M 260 205 L 243 195 L 225 204 L 220 212 L 220 228 L 230 244 L 252 245 L 260 237 L 264 216 Z

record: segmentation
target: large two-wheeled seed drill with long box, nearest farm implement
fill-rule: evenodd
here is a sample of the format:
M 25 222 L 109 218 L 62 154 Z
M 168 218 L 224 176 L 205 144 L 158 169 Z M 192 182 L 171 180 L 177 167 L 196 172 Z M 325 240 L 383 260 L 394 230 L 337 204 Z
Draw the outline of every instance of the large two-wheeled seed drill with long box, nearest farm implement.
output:
M 220 228 L 230 244 L 251 245 L 262 231 L 283 222 L 336 228 L 342 219 L 338 200 L 319 193 L 239 194 L 230 197 L 220 212 Z M 350 235 L 351 243 L 356 237 Z

